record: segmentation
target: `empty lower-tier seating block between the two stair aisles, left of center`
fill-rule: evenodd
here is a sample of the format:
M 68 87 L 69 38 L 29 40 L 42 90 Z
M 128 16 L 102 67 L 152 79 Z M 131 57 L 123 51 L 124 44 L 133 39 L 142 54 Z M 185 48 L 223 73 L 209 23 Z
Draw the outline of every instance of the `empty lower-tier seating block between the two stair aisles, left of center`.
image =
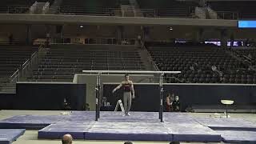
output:
M 33 81 L 72 82 L 82 70 L 144 70 L 137 51 L 51 48 L 33 69 Z

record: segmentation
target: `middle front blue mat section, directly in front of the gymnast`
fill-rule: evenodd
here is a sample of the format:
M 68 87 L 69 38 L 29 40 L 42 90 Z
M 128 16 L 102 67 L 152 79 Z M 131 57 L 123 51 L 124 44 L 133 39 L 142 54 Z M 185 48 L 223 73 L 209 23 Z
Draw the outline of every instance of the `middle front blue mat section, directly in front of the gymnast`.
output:
M 96 122 L 86 139 L 171 141 L 172 135 L 161 122 Z

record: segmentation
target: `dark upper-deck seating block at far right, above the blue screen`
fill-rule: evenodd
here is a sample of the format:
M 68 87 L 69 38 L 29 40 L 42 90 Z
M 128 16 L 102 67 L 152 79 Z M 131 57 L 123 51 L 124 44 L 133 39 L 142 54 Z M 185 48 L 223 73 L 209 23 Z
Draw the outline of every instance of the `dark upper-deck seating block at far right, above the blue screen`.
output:
M 256 2 L 255 1 L 213 1 L 207 2 L 215 11 L 226 11 L 226 12 L 238 12 L 238 18 L 240 19 L 251 19 L 256 18 Z M 218 14 L 219 17 L 223 17 L 222 14 Z M 225 18 L 232 18 L 233 16 L 228 16 L 226 13 Z

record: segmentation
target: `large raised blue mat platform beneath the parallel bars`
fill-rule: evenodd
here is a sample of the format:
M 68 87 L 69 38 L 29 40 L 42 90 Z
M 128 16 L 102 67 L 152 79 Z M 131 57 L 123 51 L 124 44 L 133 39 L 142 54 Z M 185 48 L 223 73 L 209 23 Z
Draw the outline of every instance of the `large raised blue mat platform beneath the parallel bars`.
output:
M 70 133 L 74 134 L 75 138 L 83 137 L 90 140 L 221 141 L 219 134 L 200 125 L 188 114 L 165 114 L 166 122 L 164 123 L 158 119 L 158 113 L 150 112 L 131 112 L 129 117 L 122 117 L 120 112 L 102 112 L 98 122 L 82 121 L 86 114 L 86 112 L 72 114 L 74 119 L 69 121 L 68 125 L 64 118 L 47 126 L 39 130 L 38 138 L 60 138 L 63 134 Z M 76 116 L 80 118 L 78 122 Z

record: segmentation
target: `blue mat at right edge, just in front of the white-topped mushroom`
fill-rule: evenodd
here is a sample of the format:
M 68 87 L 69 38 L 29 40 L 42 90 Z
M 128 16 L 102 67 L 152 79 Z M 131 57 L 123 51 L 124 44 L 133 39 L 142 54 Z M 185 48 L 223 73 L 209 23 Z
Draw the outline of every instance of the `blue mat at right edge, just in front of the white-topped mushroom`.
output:
M 242 118 L 194 118 L 203 126 L 214 130 L 249 130 L 256 131 L 256 123 Z

